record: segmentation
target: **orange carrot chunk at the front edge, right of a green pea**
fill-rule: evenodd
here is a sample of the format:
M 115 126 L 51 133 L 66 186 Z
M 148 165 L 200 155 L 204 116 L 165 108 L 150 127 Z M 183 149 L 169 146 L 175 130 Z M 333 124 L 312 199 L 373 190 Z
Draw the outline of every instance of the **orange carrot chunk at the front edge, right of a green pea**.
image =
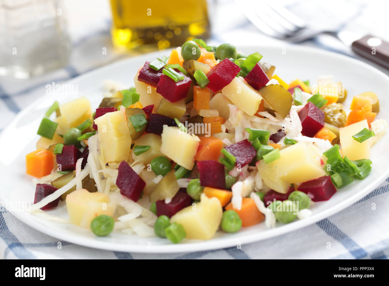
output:
M 252 198 L 243 198 L 240 210 L 234 209 L 232 203 L 226 205 L 226 211 L 233 209 L 242 219 L 242 226 L 252 226 L 260 223 L 265 216 L 258 210 Z

